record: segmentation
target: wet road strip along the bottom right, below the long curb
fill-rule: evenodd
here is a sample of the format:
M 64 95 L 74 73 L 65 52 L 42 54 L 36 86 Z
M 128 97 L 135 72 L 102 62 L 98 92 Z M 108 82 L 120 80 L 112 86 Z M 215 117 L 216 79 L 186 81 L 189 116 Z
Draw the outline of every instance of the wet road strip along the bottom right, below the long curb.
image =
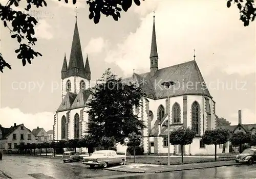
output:
M 103 178 L 103 177 L 102 177 Z M 110 178 L 110 177 L 106 177 Z M 256 164 L 254 165 L 238 165 L 230 167 L 216 167 L 207 169 L 196 169 L 196 170 L 183 170 L 166 173 L 155 173 L 155 174 L 144 174 L 137 176 L 126 176 L 126 177 L 111 177 L 111 178 L 126 178 L 126 179 L 156 179 L 156 178 L 256 178 Z

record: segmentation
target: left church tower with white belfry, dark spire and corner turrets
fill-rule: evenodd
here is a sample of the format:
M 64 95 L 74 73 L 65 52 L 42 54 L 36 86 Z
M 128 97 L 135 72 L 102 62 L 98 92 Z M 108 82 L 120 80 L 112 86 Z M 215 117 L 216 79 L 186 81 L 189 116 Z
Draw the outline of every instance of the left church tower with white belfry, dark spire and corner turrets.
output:
M 80 89 L 90 88 L 90 80 L 91 70 L 89 60 L 87 56 L 86 65 L 84 65 L 76 17 L 69 66 L 67 65 L 65 54 L 61 69 L 62 99 L 65 97 L 67 92 L 78 93 Z

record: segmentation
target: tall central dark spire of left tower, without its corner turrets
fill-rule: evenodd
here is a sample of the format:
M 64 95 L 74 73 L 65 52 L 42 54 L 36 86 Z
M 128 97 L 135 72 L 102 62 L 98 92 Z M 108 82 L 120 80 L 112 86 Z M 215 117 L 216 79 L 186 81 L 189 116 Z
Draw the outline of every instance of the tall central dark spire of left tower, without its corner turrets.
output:
M 67 78 L 70 76 L 80 76 L 81 78 L 86 78 L 84 73 L 84 63 L 82 58 L 82 48 L 80 43 L 80 37 L 77 26 L 77 15 L 75 21 L 75 29 L 71 46 L 71 53 L 69 59 L 69 68 Z

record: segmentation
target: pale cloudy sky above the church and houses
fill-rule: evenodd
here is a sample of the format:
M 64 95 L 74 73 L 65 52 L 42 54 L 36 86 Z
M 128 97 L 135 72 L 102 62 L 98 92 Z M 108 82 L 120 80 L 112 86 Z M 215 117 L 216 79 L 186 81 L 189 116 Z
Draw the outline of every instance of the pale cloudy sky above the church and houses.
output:
M 0 0 L 5 3 L 6 0 Z M 18 10 L 24 7 L 20 4 Z M 0 51 L 12 66 L 0 74 L 0 123 L 4 127 L 24 123 L 52 130 L 54 114 L 61 103 L 61 67 L 64 55 L 70 56 L 77 23 L 85 61 L 88 53 L 92 84 L 105 69 L 123 78 L 150 70 L 150 47 L 155 11 L 159 68 L 193 60 L 209 92 L 216 101 L 216 114 L 231 124 L 256 123 L 255 119 L 255 23 L 244 27 L 237 7 L 226 1 L 162 0 L 142 1 L 121 18 L 101 16 L 94 24 L 88 18 L 86 1 L 76 5 L 49 1 L 44 8 L 29 13 L 38 19 L 36 49 L 43 56 L 25 67 L 16 58 L 18 47 L 8 29 L 0 24 Z

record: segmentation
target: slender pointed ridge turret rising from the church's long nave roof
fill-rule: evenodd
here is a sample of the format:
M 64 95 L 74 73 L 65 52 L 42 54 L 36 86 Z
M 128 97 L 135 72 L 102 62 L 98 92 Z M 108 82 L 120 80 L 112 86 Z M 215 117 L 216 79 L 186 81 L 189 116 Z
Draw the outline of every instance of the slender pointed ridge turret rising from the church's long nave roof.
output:
M 151 42 L 151 52 L 150 52 L 150 73 L 152 76 L 158 70 L 158 54 L 157 54 L 157 39 L 156 39 L 156 29 L 155 29 L 155 12 L 153 16 L 153 32 L 152 32 L 152 42 Z

